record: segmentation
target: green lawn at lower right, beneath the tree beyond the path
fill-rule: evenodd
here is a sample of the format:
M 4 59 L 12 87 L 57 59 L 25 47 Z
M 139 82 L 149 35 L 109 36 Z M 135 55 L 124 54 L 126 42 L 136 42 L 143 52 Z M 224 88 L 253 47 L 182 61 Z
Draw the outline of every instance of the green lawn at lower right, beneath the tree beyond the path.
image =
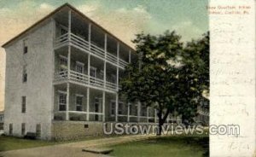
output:
M 125 157 L 200 157 L 208 156 L 209 137 L 158 137 L 113 146 L 113 156 Z

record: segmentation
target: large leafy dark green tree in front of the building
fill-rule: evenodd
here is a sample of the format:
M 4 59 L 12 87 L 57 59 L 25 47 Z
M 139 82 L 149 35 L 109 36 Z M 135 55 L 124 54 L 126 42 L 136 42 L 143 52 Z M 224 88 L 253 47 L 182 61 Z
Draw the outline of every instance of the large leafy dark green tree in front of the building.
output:
M 203 70 L 197 69 L 200 53 L 193 52 L 197 42 L 184 49 L 180 39 L 176 32 L 168 31 L 159 36 L 137 34 L 133 43 L 139 59 L 125 67 L 125 77 L 120 81 L 120 94 L 129 102 L 139 101 L 157 109 L 158 135 L 169 113 L 182 113 L 185 119 L 193 116 L 196 97 L 204 89 L 200 84 Z

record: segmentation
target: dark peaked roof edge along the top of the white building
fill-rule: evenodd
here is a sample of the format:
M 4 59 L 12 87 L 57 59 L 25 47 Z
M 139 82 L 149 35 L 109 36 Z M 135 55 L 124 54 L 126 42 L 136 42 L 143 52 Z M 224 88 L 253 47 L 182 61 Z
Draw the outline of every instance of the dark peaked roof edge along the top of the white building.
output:
M 113 38 L 115 38 L 116 40 L 118 40 L 120 43 L 125 44 L 123 41 L 121 41 L 119 38 L 115 37 L 111 32 L 108 32 L 108 30 L 106 30 L 105 28 L 103 28 L 102 26 L 98 25 L 95 21 L 91 20 L 89 17 L 87 17 L 86 15 L 84 15 L 82 12 L 80 12 L 78 9 L 74 8 L 72 5 L 70 5 L 69 3 L 64 3 L 63 5 L 61 5 L 61 7 L 55 9 L 54 11 L 52 11 L 51 13 L 49 13 L 49 15 L 46 15 L 43 19 L 38 20 L 35 24 L 33 24 L 32 26 L 28 27 L 25 31 L 20 32 L 20 34 L 18 34 L 17 36 L 15 36 L 15 38 L 10 39 L 8 42 L 6 42 L 5 44 L 2 45 L 2 47 L 4 48 L 5 46 L 7 46 L 8 44 L 11 44 L 12 42 L 15 41 L 15 39 L 20 38 L 22 35 L 26 34 L 26 32 L 31 31 L 33 28 L 35 28 L 36 26 L 38 26 L 39 24 L 41 24 L 42 22 L 44 22 L 45 20 L 49 19 L 49 17 L 51 17 L 52 15 L 55 15 L 55 13 L 57 13 L 58 11 L 60 11 L 61 9 L 64 9 L 65 7 L 73 10 L 73 12 L 77 13 L 78 15 L 81 15 L 84 19 L 89 20 L 92 24 L 100 27 L 104 32 L 107 32 L 108 34 L 110 34 Z M 125 46 L 129 47 L 130 49 L 131 46 L 129 46 L 128 44 L 125 44 Z M 134 49 L 133 49 L 134 50 Z

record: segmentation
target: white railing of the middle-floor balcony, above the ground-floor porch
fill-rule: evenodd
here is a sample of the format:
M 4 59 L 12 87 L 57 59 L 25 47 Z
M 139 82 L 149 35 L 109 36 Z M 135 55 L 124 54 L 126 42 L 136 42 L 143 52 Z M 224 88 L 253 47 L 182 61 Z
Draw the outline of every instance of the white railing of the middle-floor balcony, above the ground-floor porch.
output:
M 89 78 L 90 78 L 90 81 L 89 81 Z M 91 77 L 91 76 L 89 77 L 87 74 L 84 74 L 84 73 L 78 73 L 73 70 L 69 71 L 69 76 L 68 76 L 67 70 L 55 73 L 55 81 L 67 80 L 67 79 L 77 82 L 79 84 L 90 84 L 98 88 L 117 91 L 117 84 L 113 84 L 111 82 L 106 81 L 105 82 L 106 85 L 105 85 L 104 80 L 100 78 Z

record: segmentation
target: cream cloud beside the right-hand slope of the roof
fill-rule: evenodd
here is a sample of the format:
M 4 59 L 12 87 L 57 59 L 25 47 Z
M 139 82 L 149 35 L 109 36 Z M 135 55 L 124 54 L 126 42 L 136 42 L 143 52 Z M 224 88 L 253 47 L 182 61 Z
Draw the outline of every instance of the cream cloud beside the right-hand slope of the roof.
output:
M 97 3 L 84 4 L 78 9 L 131 46 L 133 46 L 131 39 L 134 38 L 134 34 L 142 32 L 152 18 L 142 5 L 137 5 L 131 9 L 120 8 L 106 11 L 101 4 Z

